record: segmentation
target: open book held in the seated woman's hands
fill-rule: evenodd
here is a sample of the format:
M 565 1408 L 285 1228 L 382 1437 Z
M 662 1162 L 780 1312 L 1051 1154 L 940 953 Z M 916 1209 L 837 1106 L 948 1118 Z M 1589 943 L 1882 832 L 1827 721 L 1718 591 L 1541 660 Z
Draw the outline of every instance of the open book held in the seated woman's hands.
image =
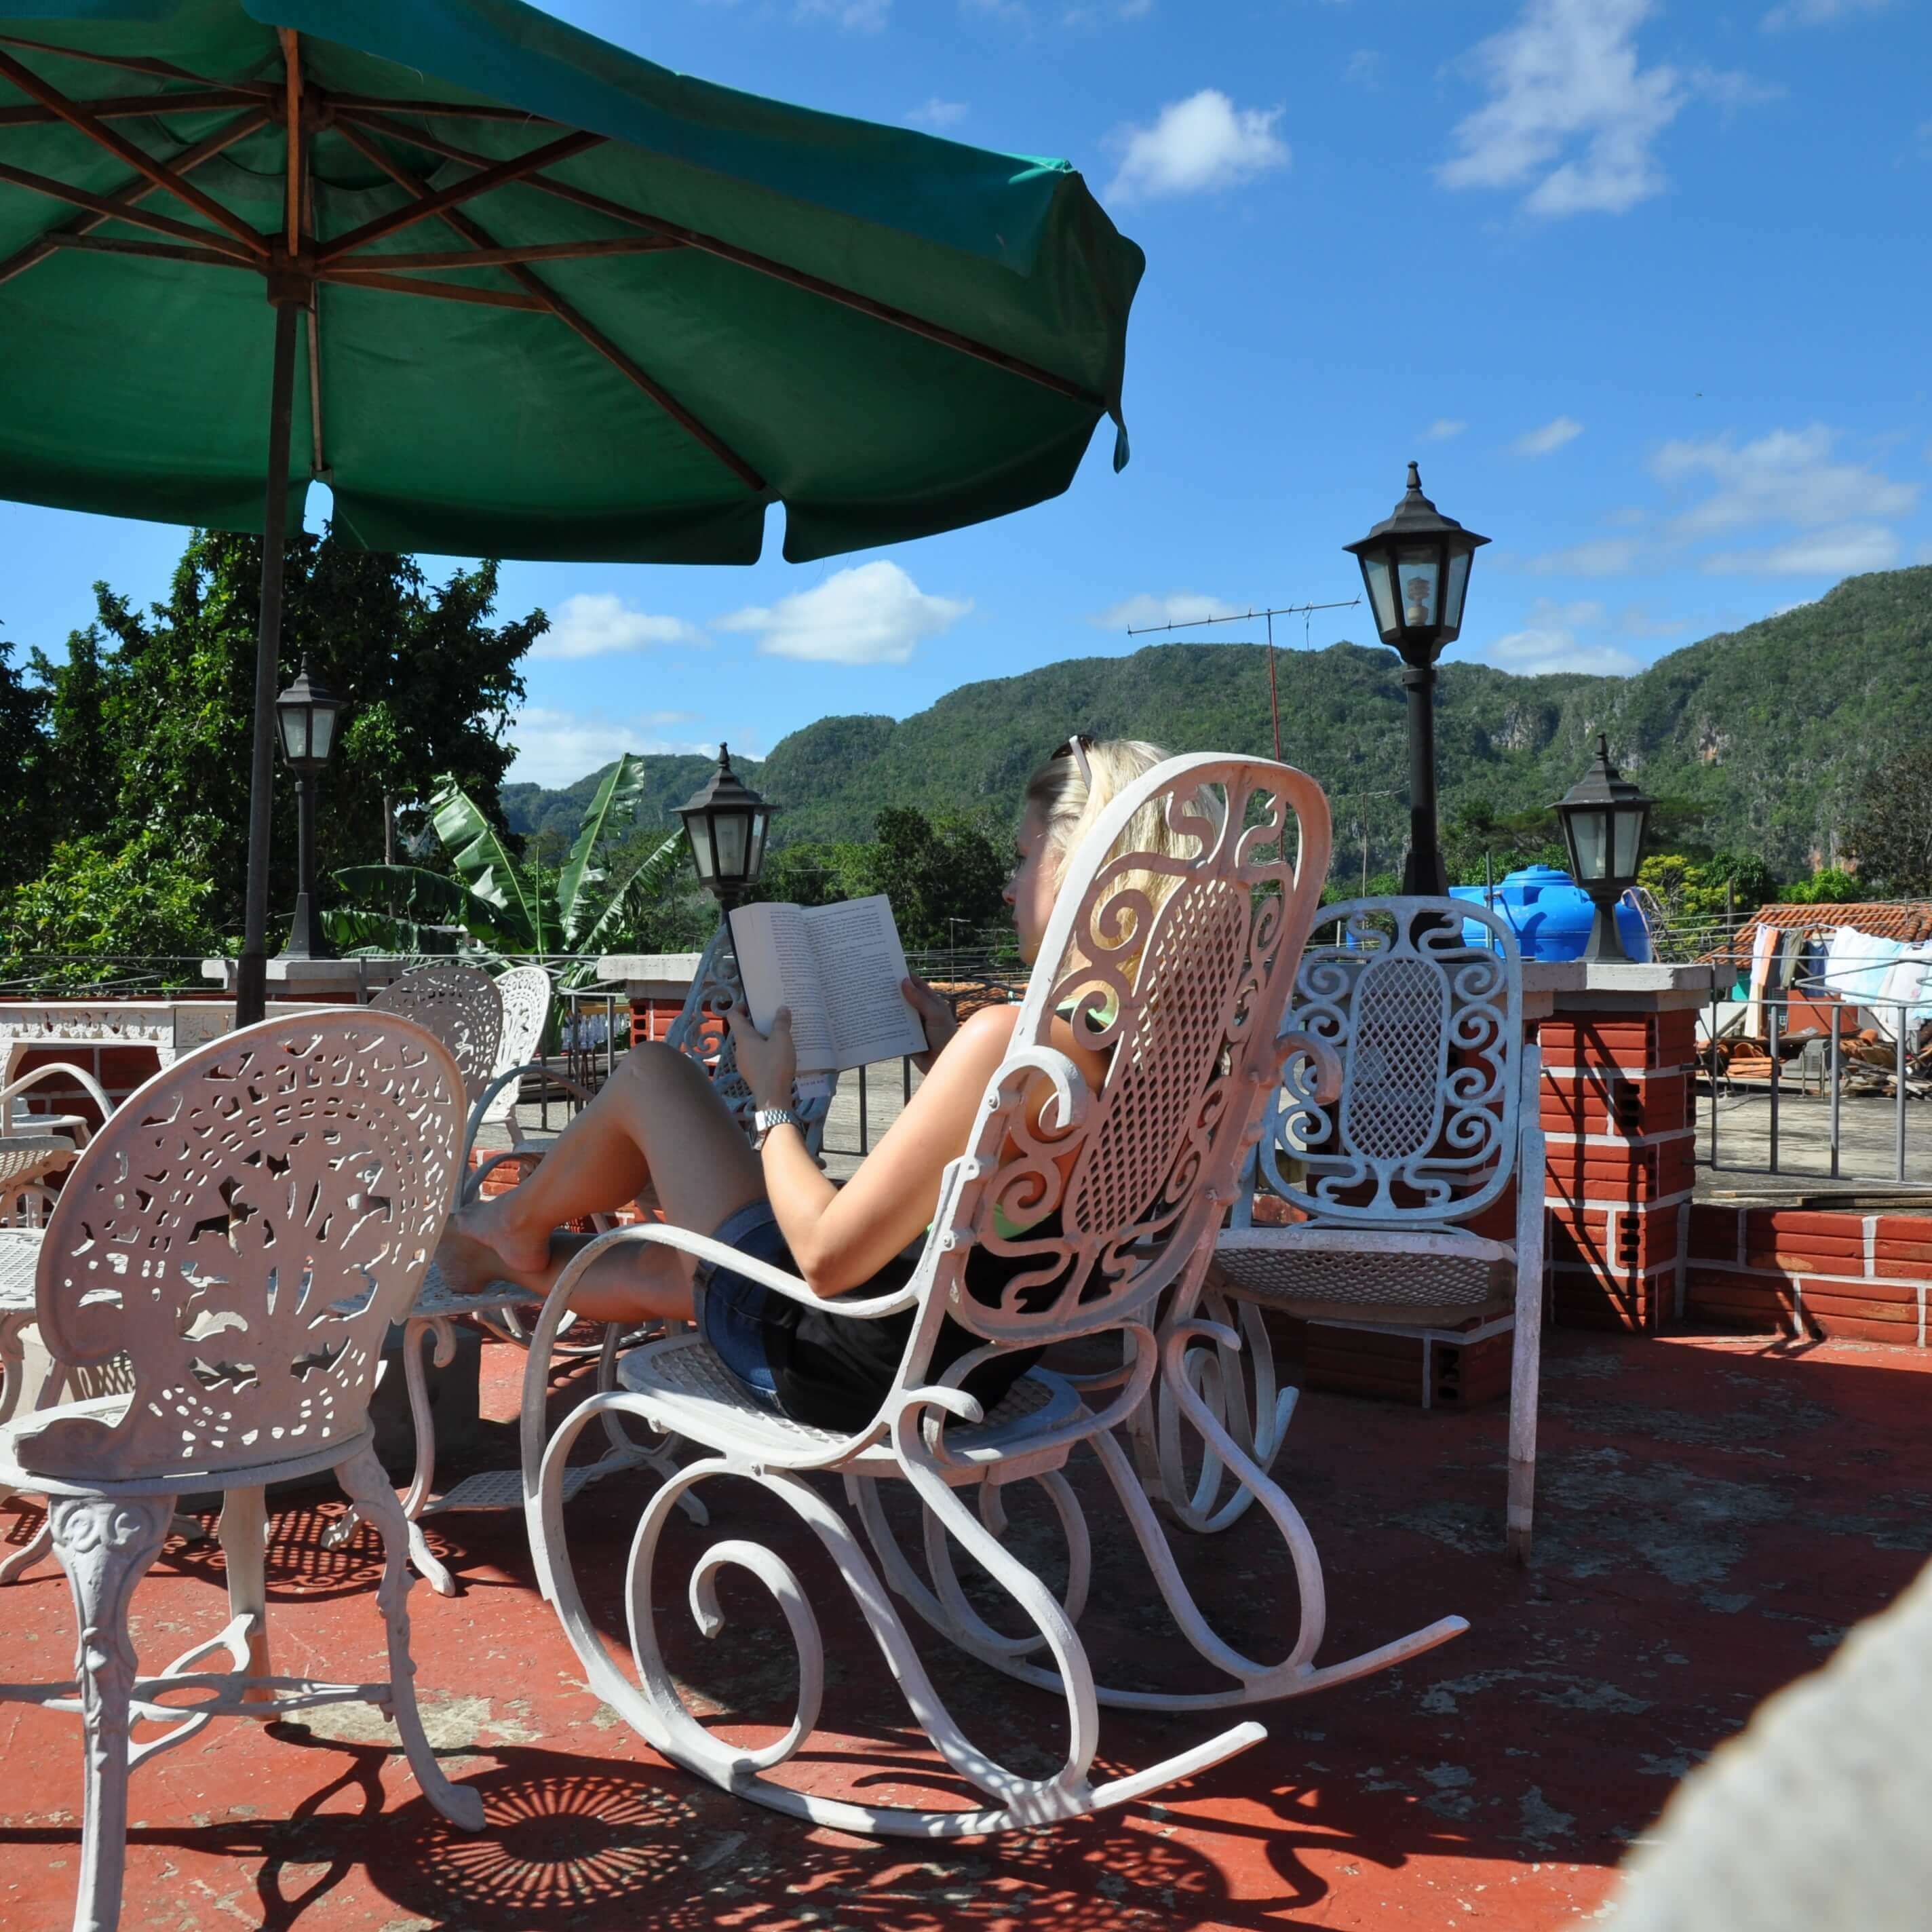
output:
M 734 906 L 730 941 L 752 1024 L 769 1034 L 779 1009 L 792 1009 L 800 1092 L 813 1074 L 925 1051 L 925 1028 L 898 989 L 906 949 L 885 893 L 837 906 Z

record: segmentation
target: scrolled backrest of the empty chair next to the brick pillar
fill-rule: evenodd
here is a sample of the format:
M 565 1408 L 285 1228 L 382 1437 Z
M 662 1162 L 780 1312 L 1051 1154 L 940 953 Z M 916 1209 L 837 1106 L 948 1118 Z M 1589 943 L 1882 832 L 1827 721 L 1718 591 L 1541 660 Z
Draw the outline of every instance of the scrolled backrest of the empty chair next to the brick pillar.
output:
M 1323 906 L 1287 1024 L 1341 1057 L 1341 1095 L 1275 1094 L 1256 1148 L 1267 1188 L 1310 1219 L 1383 1229 L 1468 1221 L 1503 1194 L 1524 1051 L 1505 918 L 1461 898 Z M 1246 1188 L 1236 1225 L 1250 1209 Z

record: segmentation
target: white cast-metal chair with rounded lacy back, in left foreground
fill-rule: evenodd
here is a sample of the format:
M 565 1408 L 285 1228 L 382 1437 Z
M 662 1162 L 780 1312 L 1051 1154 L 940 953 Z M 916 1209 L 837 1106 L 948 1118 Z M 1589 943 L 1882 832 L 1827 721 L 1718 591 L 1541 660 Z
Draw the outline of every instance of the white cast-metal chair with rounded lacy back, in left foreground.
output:
M 408 1540 L 367 1424 L 383 1333 L 456 1192 L 462 1117 L 456 1063 L 408 1020 L 276 1018 L 139 1088 L 60 1194 L 35 1279 L 41 1333 L 64 1364 L 126 1352 L 133 1391 L 0 1428 L 0 1484 L 48 1497 L 81 1629 L 77 1683 L 0 1685 L 0 1698 L 81 1718 L 77 1928 L 108 1932 L 120 1917 L 129 1770 L 214 1718 L 375 1704 L 437 1810 L 483 1826 L 481 1799 L 442 1776 L 417 1716 Z M 383 1532 L 384 1683 L 267 1667 L 263 1490 L 325 1470 Z M 224 1492 L 230 1621 L 141 1675 L 129 1598 L 176 1497 L 211 1488 Z M 218 1652 L 230 1667 L 205 1669 Z M 135 1743 L 133 1719 L 162 1729 Z

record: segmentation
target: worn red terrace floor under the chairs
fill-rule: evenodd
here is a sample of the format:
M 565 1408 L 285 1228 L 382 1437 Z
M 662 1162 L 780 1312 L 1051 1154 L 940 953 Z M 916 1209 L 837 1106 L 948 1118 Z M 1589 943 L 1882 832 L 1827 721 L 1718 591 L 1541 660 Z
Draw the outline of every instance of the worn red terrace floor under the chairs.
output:
M 506 1416 L 520 1356 L 493 1347 L 483 1360 L 489 1408 Z M 1159 1803 L 1034 1837 L 842 1839 L 665 1768 L 583 1690 L 529 1586 L 520 1519 L 435 1519 L 466 1594 L 413 1592 L 419 1685 L 452 1776 L 485 1797 L 489 1832 L 448 1830 L 373 1716 L 321 1712 L 280 1737 L 216 1725 L 135 1774 L 124 1924 L 1567 1924 L 1602 1901 L 1671 1781 L 1924 1561 L 1928 1374 L 1917 1350 L 1847 1343 L 1551 1335 L 1528 1575 L 1497 1555 L 1501 1408 L 1420 1414 L 1306 1397 L 1279 1472 L 1329 1565 L 1323 1654 L 1445 1611 L 1474 1629 L 1401 1671 L 1262 1712 L 1267 1743 Z M 620 1478 L 572 1517 L 580 1573 L 612 1633 L 643 1493 Z M 1157 1665 L 1169 1656 L 1161 1617 L 1088 1478 L 1082 1493 L 1095 1503 L 1092 1648 L 1103 1669 Z M 794 1774 L 848 1793 L 945 1789 L 815 1551 L 767 1499 L 721 1492 L 717 1505 L 723 1534 L 769 1536 L 798 1565 L 827 1629 L 833 1729 Z M 17 1542 L 29 1524 L 0 1515 L 0 1526 Z M 686 1559 L 701 1548 L 701 1532 L 672 1536 Z M 1250 1517 L 1184 1559 L 1229 1633 L 1265 1650 L 1289 1588 L 1265 1524 Z M 328 1553 L 313 1513 L 286 1513 L 270 1559 L 278 1667 L 377 1675 L 373 1575 L 367 1532 Z M 143 1660 L 213 1629 L 218 1580 L 211 1548 L 168 1546 L 137 1598 Z M 782 1721 L 782 1627 L 750 1584 L 726 1582 L 724 1602 L 734 1621 L 705 1648 L 688 1634 L 682 1584 L 667 1592 L 672 1663 L 732 1698 L 748 1723 Z M 56 1677 L 71 1642 L 54 1571 L 0 1594 L 0 1675 Z M 1043 1764 L 1059 1745 L 1049 1698 L 945 1663 L 937 1648 L 927 1658 L 993 1752 Z M 1105 1714 L 1103 1748 L 1109 1764 L 1144 1764 L 1213 1727 Z M 0 1926 L 64 1928 L 77 1855 L 73 1719 L 0 1706 Z

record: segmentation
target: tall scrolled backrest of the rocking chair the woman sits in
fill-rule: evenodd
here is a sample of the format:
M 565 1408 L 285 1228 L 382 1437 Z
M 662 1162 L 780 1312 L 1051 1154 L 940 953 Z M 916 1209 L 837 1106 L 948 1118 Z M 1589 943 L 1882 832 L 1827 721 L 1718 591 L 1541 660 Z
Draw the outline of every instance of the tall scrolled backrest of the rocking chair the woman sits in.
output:
M 1117 850 L 1144 810 L 1180 856 Z M 1066 862 L 978 1142 L 951 1169 L 929 1304 L 989 1343 L 1034 1347 L 1198 1289 L 1279 1078 L 1327 866 L 1327 800 L 1267 759 L 1169 759 L 1107 808 Z M 1055 1049 L 1055 1014 L 1109 1055 L 1097 1090 Z M 1063 1099 L 1036 1126 L 1026 1101 L 1041 1074 Z M 1016 1267 L 997 1308 L 966 1291 L 976 1248 Z

